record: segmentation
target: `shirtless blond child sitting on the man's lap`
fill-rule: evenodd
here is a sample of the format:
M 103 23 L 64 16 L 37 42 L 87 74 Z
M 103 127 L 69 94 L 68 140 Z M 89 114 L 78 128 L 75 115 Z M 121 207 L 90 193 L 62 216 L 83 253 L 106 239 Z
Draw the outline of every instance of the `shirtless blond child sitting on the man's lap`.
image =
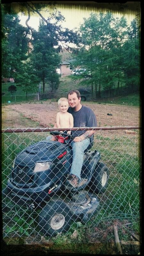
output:
M 67 98 L 60 98 L 58 100 L 58 106 L 60 109 L 60 112 L 57 113 L 56 116 L 56 124 L 57 128 L 73 128 L 74 126 L 74 119 L 72 114 L 68 113 L 68 99 Z M 62 132 L 62 131 L 60 131 Z M 68 134 L 71 133 L 71 131 L 67 132 Z

